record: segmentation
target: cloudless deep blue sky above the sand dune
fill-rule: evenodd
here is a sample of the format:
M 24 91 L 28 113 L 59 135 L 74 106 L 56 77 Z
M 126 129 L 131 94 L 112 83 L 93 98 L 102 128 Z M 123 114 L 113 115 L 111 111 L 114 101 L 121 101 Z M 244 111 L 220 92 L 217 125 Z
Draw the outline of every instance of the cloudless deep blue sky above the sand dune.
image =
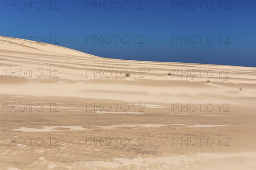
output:
M 255 0 L 0 3 L 1 35 L 108 58 L 256 66 Z

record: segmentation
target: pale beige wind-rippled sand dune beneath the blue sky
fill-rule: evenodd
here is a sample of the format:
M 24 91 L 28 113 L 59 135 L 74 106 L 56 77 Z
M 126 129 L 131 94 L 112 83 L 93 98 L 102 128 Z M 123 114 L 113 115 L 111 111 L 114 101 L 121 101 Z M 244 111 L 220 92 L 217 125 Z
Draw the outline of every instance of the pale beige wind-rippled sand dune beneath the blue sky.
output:
M 0 170 L 255 170 L 256 68 L 107 59 L 4 39 Z

